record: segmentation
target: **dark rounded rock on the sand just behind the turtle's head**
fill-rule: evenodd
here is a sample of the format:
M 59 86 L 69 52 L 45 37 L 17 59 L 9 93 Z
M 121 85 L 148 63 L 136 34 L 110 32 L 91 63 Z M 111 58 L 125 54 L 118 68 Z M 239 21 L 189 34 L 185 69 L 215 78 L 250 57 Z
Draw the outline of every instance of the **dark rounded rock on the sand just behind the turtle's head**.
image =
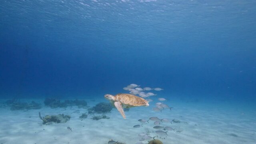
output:
M 88 109 L 88 113 L 89 114 L 102 114 L 102 113 L 107 113 L 110 112 L 112 110 L 113 106 L 110 103 L 106 103 L 106 102 L 100 102 L 98 104 L 96 104 L 96 106 L 89 108 Z

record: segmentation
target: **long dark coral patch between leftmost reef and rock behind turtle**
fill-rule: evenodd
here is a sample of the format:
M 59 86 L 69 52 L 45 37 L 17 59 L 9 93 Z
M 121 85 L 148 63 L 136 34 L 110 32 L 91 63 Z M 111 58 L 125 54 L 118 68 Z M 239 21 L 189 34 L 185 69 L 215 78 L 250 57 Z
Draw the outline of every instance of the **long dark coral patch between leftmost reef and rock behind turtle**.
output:
M 50 106 L 50 108 L 66 108 L 68 106 L 78 106 L 78 108 L 87 108 L 87 102 L 85 100 L 65 100 L 61 102 L 54 98 L 46 98 L 44 100 L 45 106 Z

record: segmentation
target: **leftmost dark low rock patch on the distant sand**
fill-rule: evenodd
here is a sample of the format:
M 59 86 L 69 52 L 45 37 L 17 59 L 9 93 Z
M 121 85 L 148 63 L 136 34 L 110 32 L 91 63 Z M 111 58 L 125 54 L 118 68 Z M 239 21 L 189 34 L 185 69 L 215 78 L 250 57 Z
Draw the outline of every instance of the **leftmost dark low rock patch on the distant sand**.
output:
M 32 109 L 40 109 L 41 105 L 32 101 L 31 103 L 26 102 L 14 102 L 11 105 L 10 110 L 32 110 Z

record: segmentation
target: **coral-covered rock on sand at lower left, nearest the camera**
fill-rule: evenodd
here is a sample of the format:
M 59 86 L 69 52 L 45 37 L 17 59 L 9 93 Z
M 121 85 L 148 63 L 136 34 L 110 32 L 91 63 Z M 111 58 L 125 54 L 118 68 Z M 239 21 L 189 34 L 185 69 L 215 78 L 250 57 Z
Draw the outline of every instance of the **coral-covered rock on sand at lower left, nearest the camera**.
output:
M 46 115 L 42 118 L 43 124 L 50 125 L 52 123 L 66 123 L 68 120 L 70 120 L 70 116 L 64 115 L 64 114 L 58 114 L 58 115 Z

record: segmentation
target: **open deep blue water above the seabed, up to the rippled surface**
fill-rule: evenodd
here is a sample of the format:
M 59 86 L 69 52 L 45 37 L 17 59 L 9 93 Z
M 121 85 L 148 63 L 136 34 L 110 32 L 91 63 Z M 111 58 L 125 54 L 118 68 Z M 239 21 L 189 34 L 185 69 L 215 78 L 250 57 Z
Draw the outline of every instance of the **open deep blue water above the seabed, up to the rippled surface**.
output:
M 86 97 L 128 84 L 253 99 L 256 1 L 2 0 L 0 97 Z

